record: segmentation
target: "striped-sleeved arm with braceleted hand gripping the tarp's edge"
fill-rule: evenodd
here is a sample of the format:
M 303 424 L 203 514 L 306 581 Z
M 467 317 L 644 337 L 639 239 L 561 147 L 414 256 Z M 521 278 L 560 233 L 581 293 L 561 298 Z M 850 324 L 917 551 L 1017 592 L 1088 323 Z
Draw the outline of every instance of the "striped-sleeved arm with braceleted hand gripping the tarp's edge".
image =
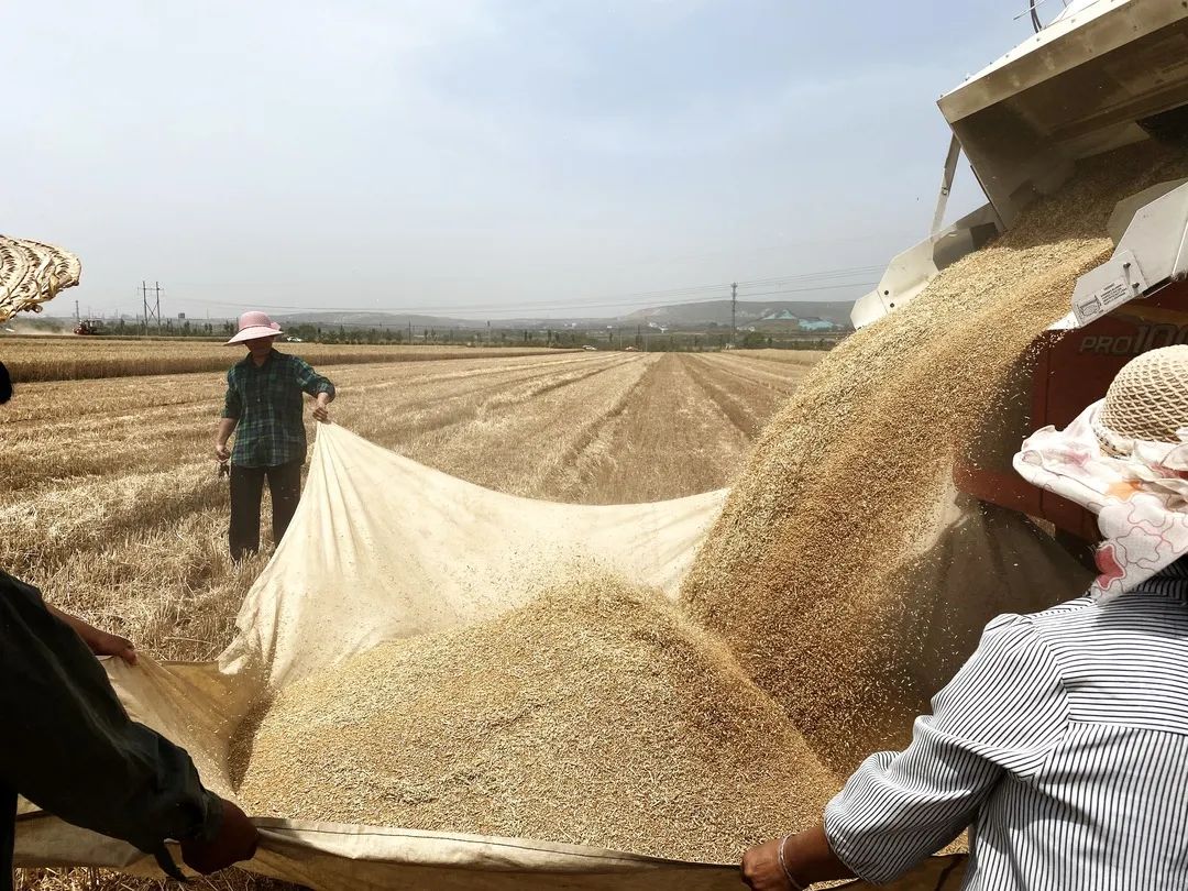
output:
M 1068 718 L 1056 659 L 1026 617 L 991 623 L 933 710 L 916 720 L 905 751 L 873 754 L 854 771 L 823 824 L 788 839 L 792 880 L 901 877 L 960 835 L 1006 771 L 1038 770 Z M 747 852 L 752 887 L 795 887 L 773 853 L 778 860 L 772 842 Z

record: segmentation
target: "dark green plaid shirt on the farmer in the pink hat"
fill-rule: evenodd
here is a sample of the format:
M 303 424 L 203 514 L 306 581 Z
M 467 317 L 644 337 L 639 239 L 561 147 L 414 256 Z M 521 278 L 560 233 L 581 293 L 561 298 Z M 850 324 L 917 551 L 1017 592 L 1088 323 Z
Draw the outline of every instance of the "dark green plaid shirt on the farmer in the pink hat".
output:
M 334 396 L 334 384 L 304 359 L 272 350 L 264 365 L 252 356 L 227 372 L 223 417 L 235 418 L 230 461 L 239 467 L 276 467 L 305 460 L 302 393 Z

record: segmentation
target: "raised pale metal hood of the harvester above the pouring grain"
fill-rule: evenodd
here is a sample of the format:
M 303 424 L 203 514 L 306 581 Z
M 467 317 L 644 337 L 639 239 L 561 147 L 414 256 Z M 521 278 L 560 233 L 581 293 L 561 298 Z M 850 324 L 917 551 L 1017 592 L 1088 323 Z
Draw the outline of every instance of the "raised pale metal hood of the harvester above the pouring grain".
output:
M 1188 7 L 1069 7 L 939 105 L 1009 227 L 1075 162 L 1148 139 L 1188 105 Z

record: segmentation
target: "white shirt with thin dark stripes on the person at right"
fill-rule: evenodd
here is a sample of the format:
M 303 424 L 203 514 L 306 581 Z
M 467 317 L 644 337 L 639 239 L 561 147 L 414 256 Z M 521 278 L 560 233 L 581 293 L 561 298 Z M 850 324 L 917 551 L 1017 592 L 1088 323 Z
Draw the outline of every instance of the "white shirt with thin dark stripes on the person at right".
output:
M 1188 889 L 1188 567 L 992 621 L 826 808 L 834 853 L 893 880 L 969 828 L 965 889 Z

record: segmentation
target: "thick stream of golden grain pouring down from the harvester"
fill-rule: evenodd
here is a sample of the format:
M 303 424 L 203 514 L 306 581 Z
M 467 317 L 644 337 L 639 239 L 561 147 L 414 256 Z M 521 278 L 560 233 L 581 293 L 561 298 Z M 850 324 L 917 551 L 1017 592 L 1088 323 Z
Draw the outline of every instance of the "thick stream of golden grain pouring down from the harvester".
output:
M 914 684 L 912 661 L 965 657 L 969 640 L 915 645 L 922 601 L 966 611 L 956 638 L 1000 611 L 921 589 L 954 450 L 993 428 L 1012 366 L 1068 311 L 1076 277 L 1110 255 L 1114 203 L 1186 172 L 1182 154 L 1150 143 L 1083 165 L 833 350 L 756 444 L 683 595 L 835 769 L 902 742 L 933 693 Z

